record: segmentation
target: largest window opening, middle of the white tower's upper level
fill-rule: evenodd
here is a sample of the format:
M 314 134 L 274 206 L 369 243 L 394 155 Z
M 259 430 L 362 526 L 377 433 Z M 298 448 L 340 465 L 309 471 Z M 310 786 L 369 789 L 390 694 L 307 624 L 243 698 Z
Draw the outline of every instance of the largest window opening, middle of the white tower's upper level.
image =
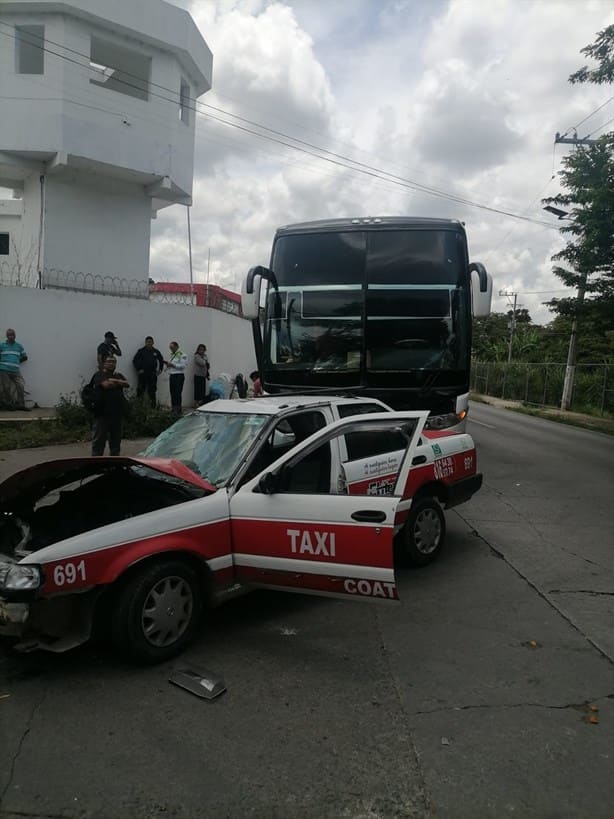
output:
M 90 68 L 94 72 L 94 77 L 90 78 L 92 85 L 139 100 L 149 99 L 151 57 L 126 46 L 92 37 Z

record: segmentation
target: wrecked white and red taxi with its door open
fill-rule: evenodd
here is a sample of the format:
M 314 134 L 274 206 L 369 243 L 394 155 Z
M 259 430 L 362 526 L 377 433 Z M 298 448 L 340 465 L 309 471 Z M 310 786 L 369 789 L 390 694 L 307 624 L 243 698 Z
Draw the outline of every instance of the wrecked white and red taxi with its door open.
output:
M 480 485 L 470 435 L 373 399 L 218 400 L 142 457 L 72 458 L 0 485 L 0 635 L 64 651 L 101 625 L 140 661 L 180 651 L 203 610 L 267 587 L 398 599 L 442 506 Z

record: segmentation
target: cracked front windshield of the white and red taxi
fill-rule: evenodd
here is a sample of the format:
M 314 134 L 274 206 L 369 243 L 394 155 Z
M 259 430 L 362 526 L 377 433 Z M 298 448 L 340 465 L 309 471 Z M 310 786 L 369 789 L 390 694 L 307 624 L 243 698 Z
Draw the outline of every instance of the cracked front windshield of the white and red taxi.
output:
M 195 412 L 152 441 L 145 458 L 174 458 L 218 488 L 247 454 L 268 415 Z

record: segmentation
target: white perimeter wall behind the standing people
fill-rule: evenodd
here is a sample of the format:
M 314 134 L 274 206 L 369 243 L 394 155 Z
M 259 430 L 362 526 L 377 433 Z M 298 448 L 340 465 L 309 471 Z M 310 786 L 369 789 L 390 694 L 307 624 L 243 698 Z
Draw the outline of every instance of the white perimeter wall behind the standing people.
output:
M 206 344 L 211 375 L 248 375 L 256 368 L 250 322 L 205 307 L 159 304 L 145 299 L 124 299 L 0 286 L 0 339 L 7 327 L 28 353 L 22 375 L 30 398 L 41 407 L 57 404 L 61 395 L 78 393 L 96 370 L 96 348 L 106 330 L 118 338 L 123 356 L 120 370 L 136 389 L 132 357 L 152 335 L 155 346 L 168 358 L 170 341 L 178 341 L 188 356 L 185 407 L 193 406 L 193 353 Z M 158 379 L 158 399 L 168 405 L 168 376 Z

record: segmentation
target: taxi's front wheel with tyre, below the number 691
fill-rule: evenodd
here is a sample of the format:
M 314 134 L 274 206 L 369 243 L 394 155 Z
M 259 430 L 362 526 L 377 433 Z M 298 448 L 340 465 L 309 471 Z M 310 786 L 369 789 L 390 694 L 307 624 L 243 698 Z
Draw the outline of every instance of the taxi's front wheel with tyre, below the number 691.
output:
M 144 566 L 119 590 L 111 615 L 111 637 L 131 660 L 162 662 L 193 639 L 203 613 L 197 572 L 182 560 Z

